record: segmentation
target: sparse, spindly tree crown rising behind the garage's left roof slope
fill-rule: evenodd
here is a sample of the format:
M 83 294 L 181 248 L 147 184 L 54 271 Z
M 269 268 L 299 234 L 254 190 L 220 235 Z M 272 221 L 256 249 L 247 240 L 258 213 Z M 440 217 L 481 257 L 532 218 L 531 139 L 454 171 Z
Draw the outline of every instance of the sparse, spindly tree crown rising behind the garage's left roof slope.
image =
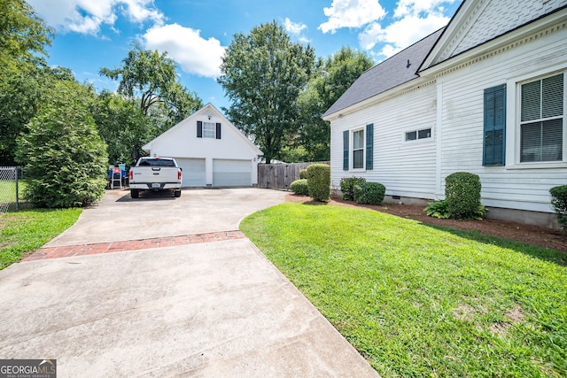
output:
M 101 68 L 100 74 L 112 80 L 120 78 L 118 93 L 138 98 L 144 115 L 149 114 L 153 105 L 165 104 L 172 120 L 178 121 L 203 106 L 196 94 L 188 92 L 177 81 L 177 66 L 173 59 L 167 58 L 167 52 L 159 54 L 157 50 L 143 50 L 136 43 L 122 63 L 113 70 Z

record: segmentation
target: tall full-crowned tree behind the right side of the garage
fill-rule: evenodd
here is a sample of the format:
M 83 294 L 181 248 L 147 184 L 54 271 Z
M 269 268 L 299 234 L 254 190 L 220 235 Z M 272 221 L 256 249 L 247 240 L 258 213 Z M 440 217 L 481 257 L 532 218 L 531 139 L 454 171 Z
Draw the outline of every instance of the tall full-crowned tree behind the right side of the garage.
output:
M 234 35 L 222 58 L 218 82 L 232 102 L 229 119 L 259 144 L 267 163 L 297 132 L 296 100 L 314 62 L 315 51 L 291 42 L 276 21 Z

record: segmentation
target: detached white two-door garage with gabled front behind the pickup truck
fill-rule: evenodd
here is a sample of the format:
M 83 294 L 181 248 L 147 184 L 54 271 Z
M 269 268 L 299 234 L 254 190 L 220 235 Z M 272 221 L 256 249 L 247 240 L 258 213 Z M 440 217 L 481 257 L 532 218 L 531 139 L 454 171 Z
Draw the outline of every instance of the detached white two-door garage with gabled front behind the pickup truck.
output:
M 175 158 L 183 187 L 249 187 L 258 183 L 263 153 L 212 104 L 144 145 L 151 156 Z

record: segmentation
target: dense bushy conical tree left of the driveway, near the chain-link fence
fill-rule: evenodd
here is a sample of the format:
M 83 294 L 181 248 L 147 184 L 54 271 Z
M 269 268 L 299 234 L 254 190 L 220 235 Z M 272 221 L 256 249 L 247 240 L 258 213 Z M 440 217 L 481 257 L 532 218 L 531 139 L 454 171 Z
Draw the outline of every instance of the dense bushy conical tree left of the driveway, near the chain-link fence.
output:
M 18 138 L 17 160 L 25 165 L 26 197 L 40 207 L 95 203 L 105 192 L 105 143 L 89 109 L 96 94 L 76 81 L 53 81 L 45 102 Z

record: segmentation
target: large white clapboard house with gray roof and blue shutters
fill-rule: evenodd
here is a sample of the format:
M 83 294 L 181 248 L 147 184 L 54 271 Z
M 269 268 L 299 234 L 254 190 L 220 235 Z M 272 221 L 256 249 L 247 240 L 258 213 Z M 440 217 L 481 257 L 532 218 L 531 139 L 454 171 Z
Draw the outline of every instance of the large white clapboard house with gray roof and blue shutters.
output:
M 331 182 L 444 197 L 478 174 L 489 216 L 551 227 L 567 184 L 567 0 L 465 0 L 447 27 L 362 73 L 325 112 Z

